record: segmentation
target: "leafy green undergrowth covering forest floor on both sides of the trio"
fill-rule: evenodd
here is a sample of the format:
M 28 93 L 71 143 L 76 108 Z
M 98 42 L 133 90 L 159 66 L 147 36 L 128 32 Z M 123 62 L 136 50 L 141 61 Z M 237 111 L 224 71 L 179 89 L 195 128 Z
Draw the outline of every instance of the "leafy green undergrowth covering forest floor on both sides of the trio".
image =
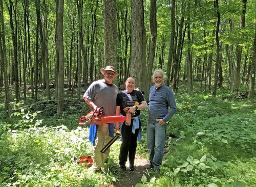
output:
M 148 170 L 136 186 L 256 186 L 255 104 L 200 93 L 175 97 L 177 112 L 167 124 L 160 172 Z M 0 186 L 108 186 L 121 180 L 120 140 L 112 145 L 101 173 L 74 162 L 74 156 L 92 155 L 89 127 L 78 126 L 89 112 L 85 105 L 79 110 L 67 106 L 71 111 L 60 118 L 18 106 L 12 122 L 1 118 Z M 4 109 L 0 115 L 5 116 Z M 137 153 L 148 159 L 147 111 L 141 121 Z

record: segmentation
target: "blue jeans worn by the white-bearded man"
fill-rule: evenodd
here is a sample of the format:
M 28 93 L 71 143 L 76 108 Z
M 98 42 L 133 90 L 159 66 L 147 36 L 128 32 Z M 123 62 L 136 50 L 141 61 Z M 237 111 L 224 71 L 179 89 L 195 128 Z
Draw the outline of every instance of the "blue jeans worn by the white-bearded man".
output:
M 166 124 L 160 125 L 153 122 L 147 123 L 146 145 L 148 151 L 150 151 L 150 163 L 156 168 L 160 168 L 160 165 L 162 165 L 165 135 Z

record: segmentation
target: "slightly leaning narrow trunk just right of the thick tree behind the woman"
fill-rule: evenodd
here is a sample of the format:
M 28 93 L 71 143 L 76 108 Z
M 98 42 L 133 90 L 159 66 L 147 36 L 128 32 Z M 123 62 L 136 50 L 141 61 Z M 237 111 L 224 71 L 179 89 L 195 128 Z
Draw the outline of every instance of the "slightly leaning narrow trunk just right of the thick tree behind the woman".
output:
M 156 54 L 156 41 L 157 41 L 157 0 L 151 0 L 150 3 L 150 55 L 147 62 L 147 81 L 144 97 L 148 100 L 150 93 L 152 68 Z

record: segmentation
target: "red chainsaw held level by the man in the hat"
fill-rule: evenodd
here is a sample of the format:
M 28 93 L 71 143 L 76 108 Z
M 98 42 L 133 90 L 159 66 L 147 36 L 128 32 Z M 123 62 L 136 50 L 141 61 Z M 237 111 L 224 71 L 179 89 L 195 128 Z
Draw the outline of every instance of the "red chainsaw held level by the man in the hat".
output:
M 79 125 L 100 125 L 102 123 L 115 123 L 115 122 L 124 122 L 124 116 L 104 116 L 103 106 L 98 108 L 95 111 L 88 113 L 86 116 L 82 116 L 79 119 Z

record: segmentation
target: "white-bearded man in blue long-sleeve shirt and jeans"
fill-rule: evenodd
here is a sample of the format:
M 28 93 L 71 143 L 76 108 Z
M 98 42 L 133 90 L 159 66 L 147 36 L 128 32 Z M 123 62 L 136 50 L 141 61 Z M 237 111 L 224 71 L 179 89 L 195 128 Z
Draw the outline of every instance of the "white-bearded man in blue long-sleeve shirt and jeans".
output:
M 150 88 L 150 106 L 148 108 L 147 123 L 147 148 L 150 152 L 150 162 L 143 168 L 160 168 L 162 165 L 166 122 L 176 112 L 176 102 L 173 90 L 164 85 L 165 75 L 161 69 L 153 73 L 153 82 L 155 86 Z M 169 109 L 170 108 L 170 109 Z

